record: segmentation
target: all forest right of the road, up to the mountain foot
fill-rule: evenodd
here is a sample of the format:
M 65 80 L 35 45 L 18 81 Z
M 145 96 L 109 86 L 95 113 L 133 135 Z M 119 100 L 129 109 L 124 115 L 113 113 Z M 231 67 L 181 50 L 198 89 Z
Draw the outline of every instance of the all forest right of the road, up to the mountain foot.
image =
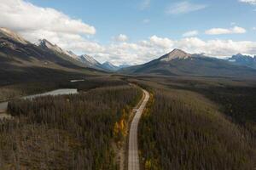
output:
M 145 80 L 135 81 L 151 92 L 138 133 L 143 169 L 256 166 L 253 87 L 216 88 L 215 82 L 210 85 L 206 80 Z

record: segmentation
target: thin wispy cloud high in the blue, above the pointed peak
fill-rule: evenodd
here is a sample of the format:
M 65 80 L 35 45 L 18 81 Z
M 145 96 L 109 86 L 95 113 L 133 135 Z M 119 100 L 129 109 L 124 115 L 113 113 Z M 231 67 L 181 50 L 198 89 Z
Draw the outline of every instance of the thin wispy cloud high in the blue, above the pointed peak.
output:
M 183 1 L 180 3 L 172 4 L 169 8 L 166 9 L 166 14 L 186 14 L 193 11 L 201 10 L 203 8 L 207 8 L 207 5 Z

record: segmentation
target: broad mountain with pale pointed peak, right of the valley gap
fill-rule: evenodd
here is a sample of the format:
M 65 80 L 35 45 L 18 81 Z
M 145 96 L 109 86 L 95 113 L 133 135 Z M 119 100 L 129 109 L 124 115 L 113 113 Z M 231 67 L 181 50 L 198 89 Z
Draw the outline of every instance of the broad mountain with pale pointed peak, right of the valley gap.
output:
M 119 71 L 125 74 L 199 77 L 255 77 L 256 70 L 245 65 L 234 65 L 230 59 L 216 59 L 203 54 L 188 54 L 180 49 L 143 65 Z

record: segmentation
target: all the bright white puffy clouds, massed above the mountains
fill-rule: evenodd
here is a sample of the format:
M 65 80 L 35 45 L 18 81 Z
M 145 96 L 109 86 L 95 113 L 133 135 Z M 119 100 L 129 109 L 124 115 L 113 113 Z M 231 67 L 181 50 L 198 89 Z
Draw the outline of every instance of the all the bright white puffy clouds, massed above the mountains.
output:
M 237 53 L 256 54 L 256 42 L 218 39 L 204 41 L 194 37 L 195 32 L 187 32 L 178 40 L 154 35 L 137 42 L 126 42 L 128 37 L 120 34 L 120 41 L 102 45 L 92 37 L 87 37 L 96 33 L 93 26 L 72 19 L 53 8 L 37 7 L 23 0 L 8 0 L 0 3 L 0 9 L 0 26 L 18 31 L 31 42 L 46 38 L 76 54 L 90 54 L 100 62 L 108 60 L 115 65 L 143 64 L 172 51 L 173 48 L 181 48 L 191 54 L 205 53 L 217 57 Z M 227 30 L 245 31 L 240 27 Z

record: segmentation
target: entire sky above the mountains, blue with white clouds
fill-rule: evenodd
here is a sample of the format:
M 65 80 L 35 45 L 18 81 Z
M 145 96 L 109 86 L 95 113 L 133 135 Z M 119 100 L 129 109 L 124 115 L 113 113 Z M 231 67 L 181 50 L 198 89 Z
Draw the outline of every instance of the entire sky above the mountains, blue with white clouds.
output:
M 2 1 L 2 0 L 0 0 Z M 182 48 L 256 54 L 256 0 L 9 0 L 0 26 L 100 62 L 140 64 Z

